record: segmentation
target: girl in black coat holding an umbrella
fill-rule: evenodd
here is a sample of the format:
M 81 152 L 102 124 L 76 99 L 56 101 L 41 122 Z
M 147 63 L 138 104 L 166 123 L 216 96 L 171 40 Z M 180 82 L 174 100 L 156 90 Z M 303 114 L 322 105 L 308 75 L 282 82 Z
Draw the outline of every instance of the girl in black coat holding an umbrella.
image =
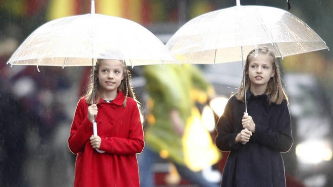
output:
M 248 54 L 244 71 L 248 114 L 242 84 L 216 125 L 216 147 L 230 151 L 221 186 L 286 186 L 281 152 L 293 139 L 278 62 L 267 47 L 259 48 Z

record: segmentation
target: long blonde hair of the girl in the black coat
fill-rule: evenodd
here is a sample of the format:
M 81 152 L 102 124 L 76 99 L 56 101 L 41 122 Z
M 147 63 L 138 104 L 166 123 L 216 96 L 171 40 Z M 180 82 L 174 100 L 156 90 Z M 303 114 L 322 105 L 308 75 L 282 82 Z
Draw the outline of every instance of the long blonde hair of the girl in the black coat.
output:
M 273 71 L 275 71 L 274 77 L 269 79 L 267 88 L 266 88 L 266 94 L 268 96 L 269 104 L 271 104 L 271 103 L 281 104 L 284 99 L 287 100 L 287 104 L 288 104 L 288 96 L 285 92 L 285 89 L 284 89 L 284 87 L 282 85 L 282 81 L 281 81 L 280 66 L 279 66 L 278 60 L 276 59 L 274 53 L 268 47 L 258 48 L 258 53 L 266 54 L 269 56 L 269 58 L 271 59 Z M 246 57 L 246 63 L 245 63 L 245 67 L 244 67 L 246 91 L 250 90 L 249 64 L 250 64 L 250 58 L 254 57 L 254 55 L 255 55 L 255 49 L 251 50 Z M 243 79 L 244 79 L 244 77 L 243 77 Z M 238 100 L 244 102 L 244 100 L 245 100 L 244 99 L 244 80 L 242 80 L 241 86 L 236 94 L 236 97 Z

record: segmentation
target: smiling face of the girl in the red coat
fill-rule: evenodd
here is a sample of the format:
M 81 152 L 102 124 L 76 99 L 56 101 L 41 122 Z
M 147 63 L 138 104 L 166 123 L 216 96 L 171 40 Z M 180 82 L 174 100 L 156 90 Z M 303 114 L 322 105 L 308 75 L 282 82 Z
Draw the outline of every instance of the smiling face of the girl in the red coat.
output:
M 103 93 L 117 92 L 124 79 L 124 68 L 120 60 L 102 59 L 97 74 Z

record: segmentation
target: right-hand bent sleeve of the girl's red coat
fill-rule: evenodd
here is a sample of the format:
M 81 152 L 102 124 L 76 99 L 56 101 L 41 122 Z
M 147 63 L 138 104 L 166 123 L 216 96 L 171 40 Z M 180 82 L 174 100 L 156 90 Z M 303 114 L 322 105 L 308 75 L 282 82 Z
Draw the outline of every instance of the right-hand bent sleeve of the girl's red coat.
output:
M 144 147 L 143 128 L 138 106 L 136 104 L 131 104 L 129 112 L 131 112 L 131 115 L 128 138 L 102 138 L 100 150 L 119 155 L 130 155 L 142 152 Z

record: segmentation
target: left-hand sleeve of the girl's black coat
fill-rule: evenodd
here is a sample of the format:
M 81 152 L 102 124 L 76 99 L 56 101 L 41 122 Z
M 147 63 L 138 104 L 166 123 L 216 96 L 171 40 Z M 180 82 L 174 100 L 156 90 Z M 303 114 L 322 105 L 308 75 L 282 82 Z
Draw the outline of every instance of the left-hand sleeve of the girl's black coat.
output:
M 239 132 L 235 132 L 233 107 L 232 98 L 230 98 L 225 107 L 225 112 L 216 124 L 217 136 L 215 138 L 215 145 L 220 151 L 231 151 L 232 149 L 238 149 L 240 146 L 240 143 L 235 143 Z

